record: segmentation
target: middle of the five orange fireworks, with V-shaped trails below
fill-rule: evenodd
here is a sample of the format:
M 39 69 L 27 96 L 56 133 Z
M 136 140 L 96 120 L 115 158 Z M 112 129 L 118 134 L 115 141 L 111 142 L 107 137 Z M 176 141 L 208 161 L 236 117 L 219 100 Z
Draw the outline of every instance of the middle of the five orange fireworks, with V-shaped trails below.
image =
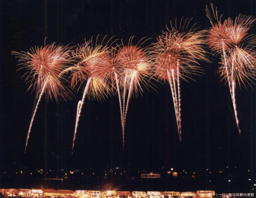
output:
M 143 91 L 142 84 L 146 84 L 145 77 L 151 73 L 146 52 L 140 45 L 132 45 L 132 39 L 133 37 L 130 38 L 127 46 L 122 43 L 122 45 L 115 48 L 115 57 L 113 59 L 114 65 L 118 67 L 118 73 L 114 72 L 114 74 L 121 110 L 123 148 L 125 146 L 125 121 L 130 98 L 132 93 L 138 94 Z M 123 88 L 123 96 L 121 96 L 121 87 Z

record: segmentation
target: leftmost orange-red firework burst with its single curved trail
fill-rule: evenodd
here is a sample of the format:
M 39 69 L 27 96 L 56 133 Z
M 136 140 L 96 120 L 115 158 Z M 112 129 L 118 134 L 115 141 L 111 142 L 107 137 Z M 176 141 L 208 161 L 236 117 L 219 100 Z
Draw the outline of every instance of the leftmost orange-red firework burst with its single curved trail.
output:
M 69 47 L 55 43 L 41 48 L 31 48 L 31 52 L 12 52 L 17 55 L 19 62 L 27 70 L 25 81 L 29 84 L 28 89 L 35 90 L 36 98 L 38 98 L 27 132 L 25 152 L 38 104 L 43 94 L 47 98 L 54 98 L 57 101 L 60 98 L 68 98 L 70 94 L 69 89 L 63 85 L 64 77 L 60 75 L 70 62 L 69 52 Z

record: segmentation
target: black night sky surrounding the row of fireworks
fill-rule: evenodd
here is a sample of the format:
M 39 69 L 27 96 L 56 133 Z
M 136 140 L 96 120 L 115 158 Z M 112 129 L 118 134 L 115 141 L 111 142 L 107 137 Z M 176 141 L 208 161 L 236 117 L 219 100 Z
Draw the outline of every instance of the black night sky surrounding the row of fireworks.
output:
M 207 0 L 123 0 L 123 1 L 29 1 L 0 2 L 0 171 L 100 166 L 145 167 L 147 170 L 179 167 L 197 172 L 206 168 L 238 166 L 241 171 L 255 166 L 255 85 L 237 90 L 238 135 L 228 86 L 220 82 L 216 70 L 219 57 L 202 63 L 205 73 L 182 83 L 182 143 L 178 141 L 175 113 L 168 84 L 155 83 L 156 91 L 145 90 L 132 98 L 126 124 L 125 150 L 122 148 L 118 98 L 103 102 L 86 100 L 74 154 L 72 135 L 77 102 L 82 92 L 67 102 L 43 99 L 24 155 L 25 138 L 35 94 L 27 92 L 11 51 L 29 51 L 35 45 L 57 42 L 75 45 L 84 38 L 109 35 L 127 43 L 156 36 L 177 17 L 193 18 L 208 28 Z M 254 14 L 249 0 L 213 1 L 223 18 L 239 13 Z M 255 27 L 252 28 L 255 33 Z M 256 171 L 254 169 L 254 171 Z M 255 172 L 252 174 L 255 175 Z

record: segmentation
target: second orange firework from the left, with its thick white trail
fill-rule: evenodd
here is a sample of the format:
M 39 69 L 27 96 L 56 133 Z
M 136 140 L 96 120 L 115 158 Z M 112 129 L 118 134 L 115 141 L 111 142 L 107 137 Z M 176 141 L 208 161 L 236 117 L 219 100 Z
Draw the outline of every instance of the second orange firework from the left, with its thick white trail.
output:
M 97 42 L 96 42 L 97 43 Z M 72 153 L 74 141 L 76 140 L 79 118 L 82 112 L 82 106 L 87 95 L 93 99 L 101 100 L 107 97 L 110 92 L 109 78 L 112 74 L 112 59 L 109 55 L 109 48 L 102 44 L 94 46 L 93 41 L 85 42 L 79 46 L 73 53 L 73 58 L 77 64 L 66 69 L 64 72 L 72 71 L 71 85 L 80 83 L 80 86 L 86 81 L 83 92 L 83 98 L 78 102 L 76 127 L 74 129 Z

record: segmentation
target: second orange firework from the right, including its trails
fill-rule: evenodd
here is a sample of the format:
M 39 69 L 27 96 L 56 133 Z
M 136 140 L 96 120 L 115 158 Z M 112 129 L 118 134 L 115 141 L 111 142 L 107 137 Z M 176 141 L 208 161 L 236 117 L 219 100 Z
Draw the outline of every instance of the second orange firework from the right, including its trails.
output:
M 167 28 L 157 38 L 151 52 L 155 75 L 170 83 L 179 140 L 182 133 L 180 78 L 186 80 L 189 74 L 199 73 L 199 60 L 207 60 L 203 48 L 205 31 L 197 31 L 193 26 L 188 29 L 190 21 L 181 21 L 179 27 L 171 24 L 171 29 Z

